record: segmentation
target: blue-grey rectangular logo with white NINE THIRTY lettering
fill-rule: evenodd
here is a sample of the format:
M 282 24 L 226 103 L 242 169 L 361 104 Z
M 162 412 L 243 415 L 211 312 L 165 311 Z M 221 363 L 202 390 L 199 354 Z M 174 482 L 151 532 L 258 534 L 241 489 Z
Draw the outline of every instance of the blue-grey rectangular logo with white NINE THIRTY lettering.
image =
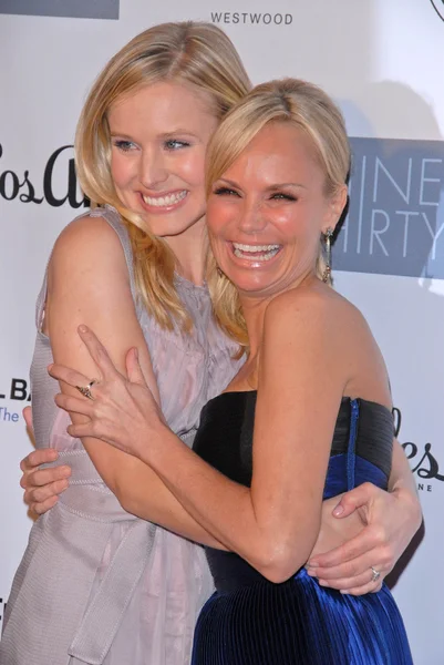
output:
M 351 139 L 350 207 L 333 268 L 444 278 L 444 143 Z

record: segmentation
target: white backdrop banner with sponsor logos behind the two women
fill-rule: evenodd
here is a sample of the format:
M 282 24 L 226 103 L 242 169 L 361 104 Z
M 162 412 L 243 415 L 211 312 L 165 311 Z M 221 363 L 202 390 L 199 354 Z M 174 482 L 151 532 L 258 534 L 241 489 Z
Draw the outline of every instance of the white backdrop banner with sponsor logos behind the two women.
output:
M 56 235 L 85 207 L 76 119 L 117 49 L 186 19 L 223 28 L 255 83 L 300 76 L 344 113 L 354 160 L 335 285 L 366 316 L 390 370 L 425 520 L 394 594 L 415 665 L 442 665 L 443 0 L 0 0 L 0 615 L 31 523 L 19 461 L 31 450 L 21 410 L 34 301 Z

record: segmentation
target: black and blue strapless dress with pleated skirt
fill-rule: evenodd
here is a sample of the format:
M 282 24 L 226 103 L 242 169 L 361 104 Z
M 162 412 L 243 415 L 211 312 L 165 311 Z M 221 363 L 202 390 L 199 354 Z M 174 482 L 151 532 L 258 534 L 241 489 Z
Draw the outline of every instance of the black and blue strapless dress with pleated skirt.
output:
M 225 392 L 204 407 L 194 450 L 249 487 L 256 391 Z M 344 398 L 323 499 L 370 481 L 386 489 L 393 444 L 390 411 Z M 297 481 L 297 479 L 296 479 Z M 206 548 L 216 592 L 195 632 L 193 665 L 412 665 L 389 589 L 364 596 L 322 587 L 306 570 L 273 584 L 237 554 Z

